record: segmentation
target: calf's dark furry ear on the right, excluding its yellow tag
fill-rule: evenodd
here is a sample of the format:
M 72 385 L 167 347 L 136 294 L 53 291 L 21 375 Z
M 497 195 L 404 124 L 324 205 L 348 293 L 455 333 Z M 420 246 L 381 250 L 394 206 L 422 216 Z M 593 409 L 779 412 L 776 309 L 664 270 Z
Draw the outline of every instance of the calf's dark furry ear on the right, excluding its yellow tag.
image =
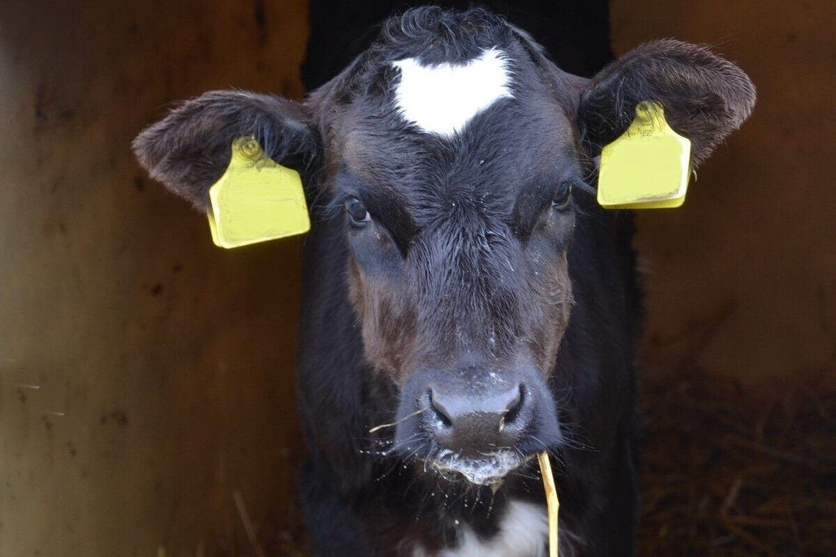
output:
M 755 87 L 740 68 L 705 47 L 670 39 L 645 43 L 584 89 L 579 127 L 594 156 L 624 133 L 644 100 L 662 104 L 670 127 L 691 139 L 696 167 L 752 113 Z

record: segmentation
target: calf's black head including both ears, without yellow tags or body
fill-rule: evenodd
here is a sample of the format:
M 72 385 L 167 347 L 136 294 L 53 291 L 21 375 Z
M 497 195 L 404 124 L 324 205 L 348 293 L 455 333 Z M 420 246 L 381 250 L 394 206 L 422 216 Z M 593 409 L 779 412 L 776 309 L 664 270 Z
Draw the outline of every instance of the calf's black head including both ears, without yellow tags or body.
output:
M 207 93 L 134 148 L 200 208 L 237 136 L 299 170 L 326 205 L 314 225 L 347 246 L 369 372 L 398 393 L 395 449 L 490 484 L 562 441 L 548 383 L 573 308 L 574 225 L 599 210 L 602 146 L 655 100 L 697 165 L 754 99 L 745 74 L 699 46 L 647 43 L 586 79 L 500 18 L 421 8 L 303 104 Z

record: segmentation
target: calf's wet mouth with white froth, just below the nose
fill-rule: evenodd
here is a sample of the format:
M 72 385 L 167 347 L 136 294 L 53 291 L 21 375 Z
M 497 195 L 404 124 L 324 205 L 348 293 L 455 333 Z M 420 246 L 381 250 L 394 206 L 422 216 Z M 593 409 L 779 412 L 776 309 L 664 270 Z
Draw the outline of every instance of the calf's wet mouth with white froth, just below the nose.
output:
M 502 483 L 509 473 L 522 468 L 532 458 L 533 455 L 524 457 L 511 449 L 480 453 L 477 458 L 473 458 L 442 448 L 426 462 L 430 468 L 449 481 L 465 479 L 474 485 L 496 485 Z

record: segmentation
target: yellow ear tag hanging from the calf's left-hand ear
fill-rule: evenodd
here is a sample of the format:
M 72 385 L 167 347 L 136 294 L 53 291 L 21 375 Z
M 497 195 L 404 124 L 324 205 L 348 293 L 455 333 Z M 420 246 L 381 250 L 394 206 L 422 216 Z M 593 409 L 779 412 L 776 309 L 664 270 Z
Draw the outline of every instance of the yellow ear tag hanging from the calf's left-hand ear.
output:
M 232 142 L 232 159 L 209 189 L 209 200 L 209 230 L 216 246 L 247 246 L 310 229 L 298 172 L 264 156 L 252 137 Z

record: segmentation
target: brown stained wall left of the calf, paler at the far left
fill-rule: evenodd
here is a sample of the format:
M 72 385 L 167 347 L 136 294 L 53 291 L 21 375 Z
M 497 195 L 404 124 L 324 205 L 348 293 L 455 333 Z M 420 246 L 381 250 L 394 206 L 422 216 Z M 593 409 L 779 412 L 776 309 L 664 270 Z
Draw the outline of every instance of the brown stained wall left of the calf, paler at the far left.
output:
M 292 518 L 300 243 L 215 248 L 129 144 L 206 89 L 300 95 L 304 3 L 0 11 L 0 555 L 248 545 L 234 490 Z

